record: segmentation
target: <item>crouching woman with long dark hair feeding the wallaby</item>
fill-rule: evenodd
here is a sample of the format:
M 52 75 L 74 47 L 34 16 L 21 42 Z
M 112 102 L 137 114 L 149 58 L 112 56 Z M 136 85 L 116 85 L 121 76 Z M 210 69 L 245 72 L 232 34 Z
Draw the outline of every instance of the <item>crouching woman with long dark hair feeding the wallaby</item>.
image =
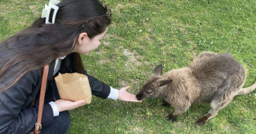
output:
M 124 87 L 120 90 L 87 74 L 80 54 L 100 46 L 111 22 L 111 11 L 97 0 L 63 0 L 49 22 L 37 19 L 24 31 L 0 43 L 0 133 L 30 133 L 37 121 L 43 66 L 49 64 L 41 133 L 67 133 L 67 110 L 85 105 L 62 100 L 55 84 L 58 73 L 78 72 L 88 76 L 92 94 L 100 98 L 139 102 Z M 30 106 L 35 99 L 34 106 Z

